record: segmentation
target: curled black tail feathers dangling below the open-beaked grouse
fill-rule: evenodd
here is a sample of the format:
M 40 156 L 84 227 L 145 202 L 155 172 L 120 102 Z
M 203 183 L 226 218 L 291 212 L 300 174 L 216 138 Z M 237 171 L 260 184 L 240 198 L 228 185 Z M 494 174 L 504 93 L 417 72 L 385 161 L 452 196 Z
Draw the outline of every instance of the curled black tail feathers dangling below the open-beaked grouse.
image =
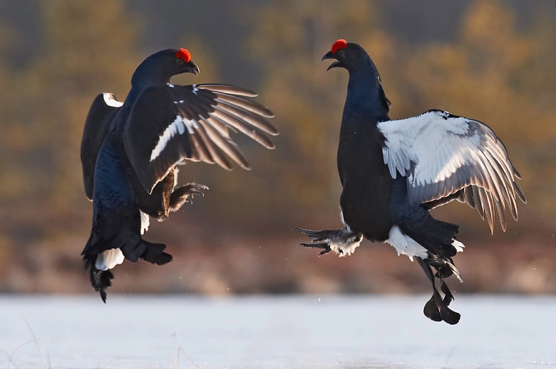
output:
M 425 271 L 425 275 L 429 278 L 429 281 L 432 284 L 432 298 L 425 304 L 425 308 L 423 309 L 423 313 L 427 318 L 434 320 L 436 322 L 445 321 L 448 324 L 456 324 L 459 322 L 459 318 L 461 317 L 459 313 L 451 310 L 448 308 L 448 305 L 452 300 L 454 300 L 454 295 L 450 292 L 450 288 L 448 284 L 444 282 L 445 277 L 449 277 L 452 274 L 456 274 L 459 277 L 459 273 L 457 272 L 457 268 L 455 268 L 452 260 L 444 260 L 450 258 L 442 258 L 439 259 L 437 257 L 430 257 L 427 259 L 422 259 L 417 257 L 417 261 L 423 271 Z M 444 261 L 444 262 L 442 262 Z M 453 266 L 443 268 L 448 265 L 448 263 Z M 433 274 L 432 268 L 436 269 L 436 273 Z M 448 272 L 449 271 L 449 272 Z M 436 289 L 435 284 L 435 277 L 440 280 L 440 289 L 444 293 L 444 298 L 441 297 L 439 291 Z M 461 277 L 459 278 L 461 280 Z

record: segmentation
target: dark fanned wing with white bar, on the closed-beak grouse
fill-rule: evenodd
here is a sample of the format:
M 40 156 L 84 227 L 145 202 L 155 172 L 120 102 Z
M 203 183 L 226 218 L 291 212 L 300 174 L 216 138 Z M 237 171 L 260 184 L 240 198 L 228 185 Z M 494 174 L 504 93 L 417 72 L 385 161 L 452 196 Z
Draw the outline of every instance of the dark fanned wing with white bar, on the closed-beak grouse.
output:
M 278 134 L 266 121 L 274 114 L 250 100 L 254 96 L 250 90 L 230 85 L 145 89 L 124 128 L 126 153 L 145 190 L 150 193 L 172 166 L 184 159 L 231 170 L 231 158 L 250 169 L 229 130 L 242 132 L 266 148 L 274 148 L 274 144 L 265 134 Z

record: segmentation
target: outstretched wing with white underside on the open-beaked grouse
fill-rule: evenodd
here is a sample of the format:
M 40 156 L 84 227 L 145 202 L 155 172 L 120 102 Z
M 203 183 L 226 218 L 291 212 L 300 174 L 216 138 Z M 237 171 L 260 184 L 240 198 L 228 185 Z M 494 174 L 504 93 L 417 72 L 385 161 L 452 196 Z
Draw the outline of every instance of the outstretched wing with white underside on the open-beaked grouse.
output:
M 491 232 L 495 212 L 503 230 L 506 208 L 517 220 L 516 199 L 526 201 L 516 181 L 521 176 L 484 123 L 429 110 L 378 128 L 386 138 L 384 164 L 393 178 L 407 177 L 410 203 L 436 207 L 457 199 L 477 209 Z

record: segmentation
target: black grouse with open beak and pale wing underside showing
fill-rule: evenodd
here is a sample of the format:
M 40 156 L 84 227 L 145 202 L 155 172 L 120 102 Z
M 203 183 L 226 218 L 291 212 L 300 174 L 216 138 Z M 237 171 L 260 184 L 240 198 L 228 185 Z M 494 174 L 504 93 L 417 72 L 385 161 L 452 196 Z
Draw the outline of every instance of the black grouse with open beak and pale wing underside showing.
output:
M 460 315 L 448 308 L 453 295 L 444 280 L 461 280 L 452 257 L 464 245 L 455 238 L 458 225 L 434 219 L 430 210 L 458 200 L 477 209 L 491 231 L 498 212 L 505 230 L 505 209 L 517 220 L 516 199 L 525 203 L 521 176 L 480 121 L 441 110 L 391 120 L 377 68 L 358 44 L 338 40 L 325 59 L 336 60 L 328 69 L 345 68 L 350 76 L 337 157 L 344 227 L 298 228 L 312 238 L 302 245 L 345 256 L 363 237 L 390 243 L 398 255 L 417 259 L 432 284 L 425 316 L 456 324 Z

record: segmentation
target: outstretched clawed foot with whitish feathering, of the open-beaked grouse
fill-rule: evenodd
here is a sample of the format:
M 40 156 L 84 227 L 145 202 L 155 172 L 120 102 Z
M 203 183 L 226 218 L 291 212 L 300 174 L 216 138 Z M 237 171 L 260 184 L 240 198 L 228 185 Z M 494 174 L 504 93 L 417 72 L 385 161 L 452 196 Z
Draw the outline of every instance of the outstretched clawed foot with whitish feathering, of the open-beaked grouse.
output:
M 363 234 L 355 233 L 349 227 L 341 230 L 305 230 L 304 228 L 295 228 L 295 230 L 311 237 L 311 241 L 300 243 L 306 248 L 322 248 L 319 255 L 325 255 L 330 251 L 336 252 L 338 256 L 352 255 L 357 246 L 363 241 Z

